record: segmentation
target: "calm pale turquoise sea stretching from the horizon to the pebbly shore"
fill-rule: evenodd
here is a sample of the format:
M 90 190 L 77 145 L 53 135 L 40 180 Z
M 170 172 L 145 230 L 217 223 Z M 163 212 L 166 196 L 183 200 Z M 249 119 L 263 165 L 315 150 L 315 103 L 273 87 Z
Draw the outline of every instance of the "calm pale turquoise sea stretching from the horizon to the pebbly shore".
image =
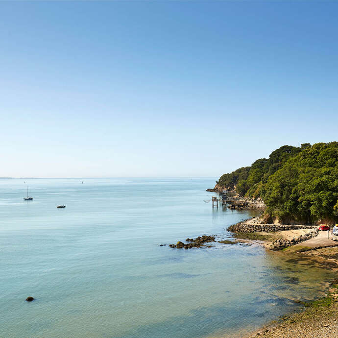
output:
M 1 337 L 233 337 L 330 278 L 257 245 L 159 246 L 254 215 L 204 203 L 214 179 L 25 181 L 33 201 L 0 179 Z

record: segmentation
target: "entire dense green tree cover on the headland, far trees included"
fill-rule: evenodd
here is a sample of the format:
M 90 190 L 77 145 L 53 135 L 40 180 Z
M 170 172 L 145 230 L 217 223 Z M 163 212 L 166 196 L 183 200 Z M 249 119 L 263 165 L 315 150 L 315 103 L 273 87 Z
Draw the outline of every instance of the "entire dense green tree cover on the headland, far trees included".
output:
M 250 167 L 222 175 L 217 185 L 262 198 L 266 218 L 338 223 L 338 142 L 284 145 Z

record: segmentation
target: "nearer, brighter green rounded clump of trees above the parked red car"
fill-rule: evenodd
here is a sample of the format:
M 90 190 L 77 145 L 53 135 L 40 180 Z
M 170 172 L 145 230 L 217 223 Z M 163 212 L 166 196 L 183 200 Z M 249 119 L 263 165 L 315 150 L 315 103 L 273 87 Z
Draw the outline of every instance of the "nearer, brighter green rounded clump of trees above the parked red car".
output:
M 338 219 L 338 142 L 308 146 L 271 175 L 266 212 L 281 220 Z

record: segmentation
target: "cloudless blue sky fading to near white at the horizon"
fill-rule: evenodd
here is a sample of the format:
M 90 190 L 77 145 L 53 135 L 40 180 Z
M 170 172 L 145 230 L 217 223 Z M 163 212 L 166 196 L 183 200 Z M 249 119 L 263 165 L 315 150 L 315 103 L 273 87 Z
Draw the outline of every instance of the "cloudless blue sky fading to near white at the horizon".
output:
M 0 176 L 215 176 L 338 141 L 338 2 L 0 2 Z

